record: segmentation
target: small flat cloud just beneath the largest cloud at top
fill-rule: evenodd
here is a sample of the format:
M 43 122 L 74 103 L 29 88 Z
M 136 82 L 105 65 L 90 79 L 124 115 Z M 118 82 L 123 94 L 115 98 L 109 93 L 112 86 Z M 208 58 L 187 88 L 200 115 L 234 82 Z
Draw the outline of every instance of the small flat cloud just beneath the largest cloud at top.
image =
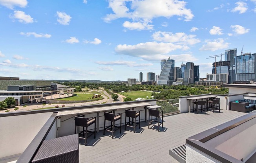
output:
M 123 23 L 123 27 L 130 30 L 149 30 L 153 29 L 154 25 L 149 25 L 147 22 L 128 22 Z

